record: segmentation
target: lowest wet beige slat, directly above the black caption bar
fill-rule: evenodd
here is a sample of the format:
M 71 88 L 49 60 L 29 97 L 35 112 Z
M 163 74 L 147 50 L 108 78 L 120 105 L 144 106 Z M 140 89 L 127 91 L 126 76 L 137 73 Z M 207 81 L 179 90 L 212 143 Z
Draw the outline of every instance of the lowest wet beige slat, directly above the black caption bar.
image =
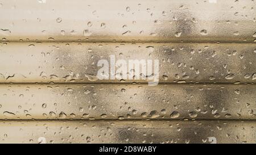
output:
M 0 143 L 255 143 L 254 121 L 0 121 Z

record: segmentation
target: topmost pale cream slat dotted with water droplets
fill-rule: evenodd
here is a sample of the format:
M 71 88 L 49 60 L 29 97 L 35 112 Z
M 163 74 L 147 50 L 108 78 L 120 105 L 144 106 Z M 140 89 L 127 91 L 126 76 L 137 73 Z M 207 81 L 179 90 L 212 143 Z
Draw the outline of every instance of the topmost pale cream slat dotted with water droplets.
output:
M 1 4 L 2 41 L 255 42 L 254 1 L 3 0 Z

